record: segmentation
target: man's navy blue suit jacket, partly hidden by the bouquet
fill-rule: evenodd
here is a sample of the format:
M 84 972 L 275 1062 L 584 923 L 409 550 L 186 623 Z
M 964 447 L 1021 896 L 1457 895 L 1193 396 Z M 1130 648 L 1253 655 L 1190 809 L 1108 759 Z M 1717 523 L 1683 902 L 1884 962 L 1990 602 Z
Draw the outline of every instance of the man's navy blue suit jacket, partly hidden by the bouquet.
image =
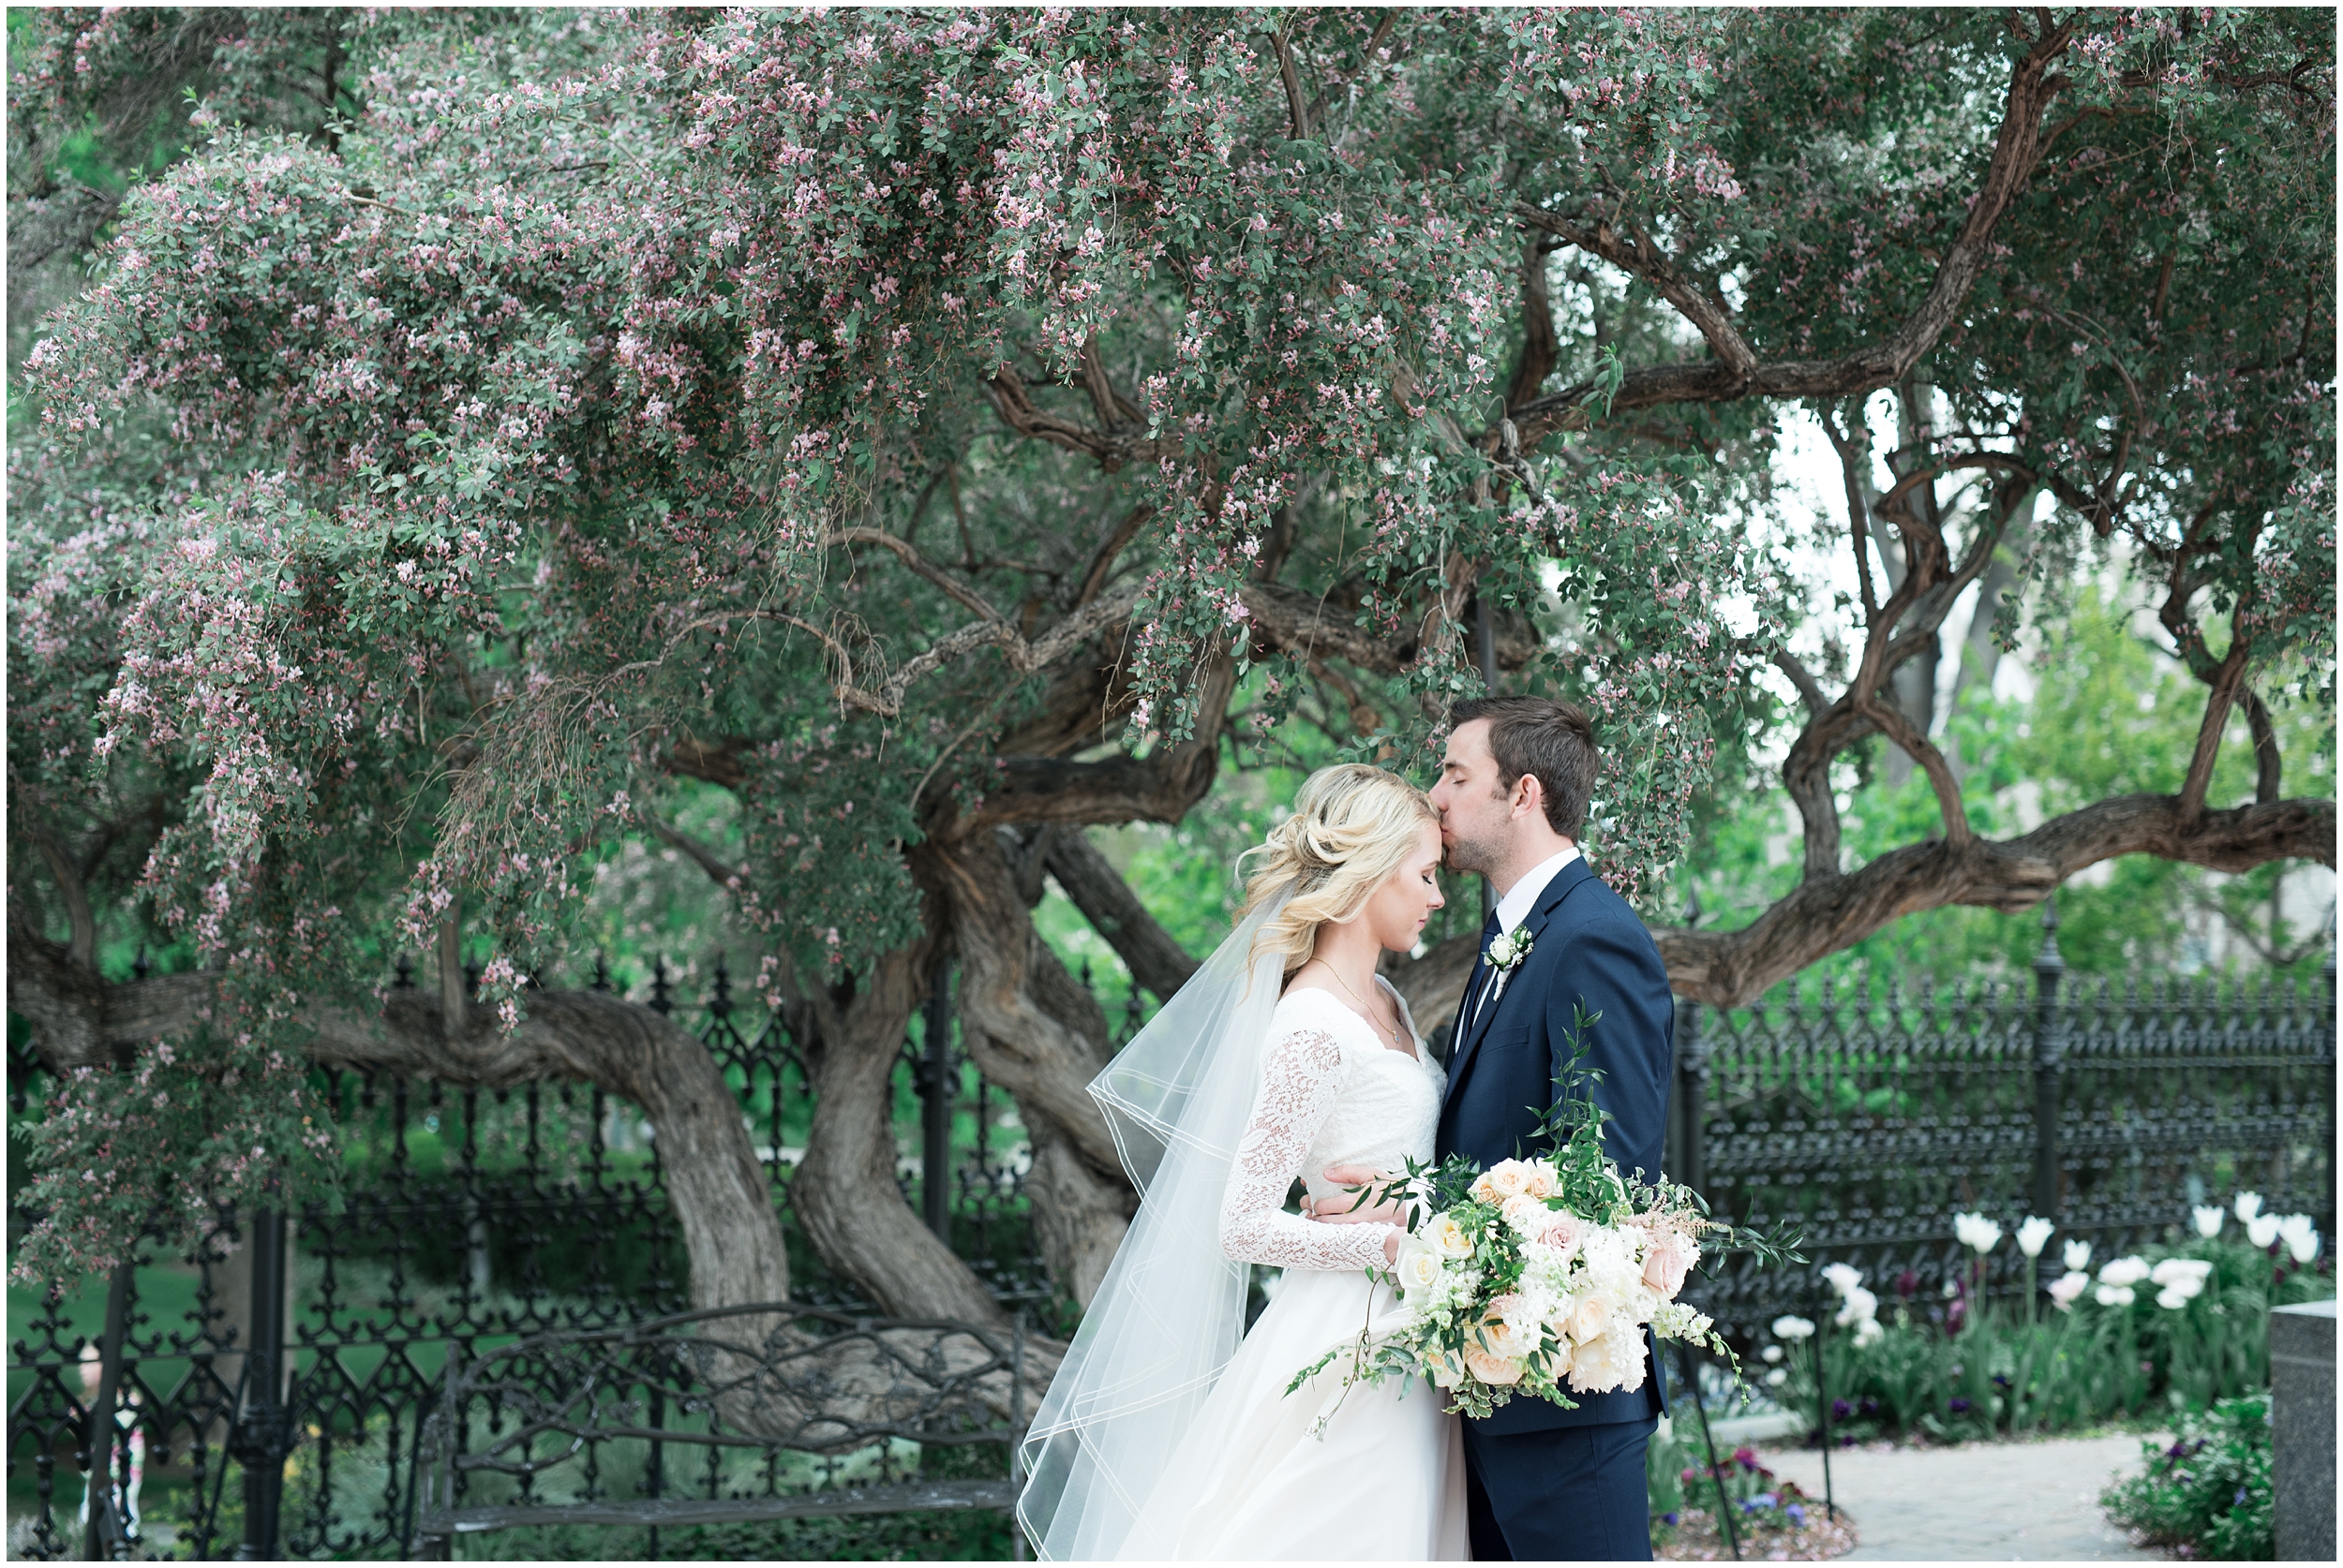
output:
M 1504 981 L 1504 992 L 1478 1009 L 1457 1013 L 1448 1048 L 1448 1098 L 1441 1102 L 1436 1154 L 1464 1154 L 1495 1165 L 1502 1158 L 1551 1149 L 1537 1135 L 1539 1119 L 1560 1093 L 1556 1074 L 1570 1062 L 1577 1013 L 1593 1018 L 1582 1044 L 1579 1070 L 1603 1074 L 1579 1084 L 1610 1112 L 1603 1147 L 1624 1175 L 1659 1175 L 1668 1133 L 1668 1077 L 1675 1058 L 1675 997 L 1652 934 L 1603 878 L 1574 859 L 1537 896 L 1521 929 L 1530 934 L 1530 957 Z M 1464 1004 L 1488 983 L 1485 955 L 1464 985 Z M 1598 1018 L 1600 1013 L 1600 1018 Z M 1647 1350 L 1649 1355 L 1649 1341 Z M 1666 1409 L 1657 1357 L 1635 1392 L 1572 1395 L 1565 1411 L 1544 1399 L 1514 1399 L 1485 1423 L 1488 1432 L 1542 1432 L 1565 1425 L 1642 1421 Z

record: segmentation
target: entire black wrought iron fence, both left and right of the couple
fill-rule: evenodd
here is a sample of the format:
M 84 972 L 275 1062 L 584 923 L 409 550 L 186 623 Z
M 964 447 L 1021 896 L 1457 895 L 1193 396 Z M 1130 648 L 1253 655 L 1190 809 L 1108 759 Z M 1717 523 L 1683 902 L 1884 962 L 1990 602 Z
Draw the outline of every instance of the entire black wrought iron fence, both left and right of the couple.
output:
M 738 1006 L 722 967 L 712 981 L 689 1023 L 740 1098 L 799 1299 L 851 1304 L 787 1224 L 813 1121 L 806 1062 L 778 1018 Z M 675 1006 L 665 969 L 649 1002 Z M 1122 1032 L 1136 1023 L 1132 1006 Z M 2254 1187 L 2334 1231 L 2331 962 L 2310 988 L 2076 983 L 2048 941 L 2031 988 L 1788 992 L 1722 1016 L 1685 1004 L 1678 1030 L 1671 1175 L 1731 1219 L 1797 1224 L 1813 1266 L 1846 1259 L 1881 1287 L 1956 1273 L 1956 1210 L 2003 1224 L 2043 1212 L 2106 1254 L 2186 1222 L 2193 1201 Z M 37 1072 L 12 1051 L 19 1114 Z M 16 1556 L 405 1556 L 450 1348 L 478 1357 L 686 1306 L 656 1137 L 635 1107 L 567 1084 L 478 1093 L 333 1074 L 321 1088 L 351 1161 L 340 1215 L 223 1215 L 180 1259 L 150 1243 L 115 1275 L 103 1322 L 63 1290 L 12 1313 Z M 949 1004 L 904 1041 L 895 1121 L 914 1210 L 998 1294 L 1045 1294 L 1024 1135 L 956 1048 Z M 930 1182 L 937 1170 L 949 1180 Z M 1729 1266 L 1706 1285 L 1708 1308 L 1743 1332 L 1811 1301 L 1811 1275 Z M 112 1411 L 110 1442 L 94 1411 Z M 89 1463 L 112 1486 L 84 1488 Z M 75 1512 L 82 1495 L 96 1521 Z

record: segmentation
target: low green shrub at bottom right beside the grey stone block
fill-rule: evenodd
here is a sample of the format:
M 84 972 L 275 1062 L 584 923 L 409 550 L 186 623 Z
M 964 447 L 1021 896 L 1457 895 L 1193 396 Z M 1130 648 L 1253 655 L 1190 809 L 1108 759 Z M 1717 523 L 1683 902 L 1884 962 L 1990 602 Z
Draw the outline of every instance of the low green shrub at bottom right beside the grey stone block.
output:
M 2151 1545 L 2184 1556 L 2277 1556 L 2270 1491 L 2270 1397 L 2221 1399 L 2184 1416 L 2172 1446 L 2144 1444 L 2146 1474 L 2116 1481 L 2099 1502 Z

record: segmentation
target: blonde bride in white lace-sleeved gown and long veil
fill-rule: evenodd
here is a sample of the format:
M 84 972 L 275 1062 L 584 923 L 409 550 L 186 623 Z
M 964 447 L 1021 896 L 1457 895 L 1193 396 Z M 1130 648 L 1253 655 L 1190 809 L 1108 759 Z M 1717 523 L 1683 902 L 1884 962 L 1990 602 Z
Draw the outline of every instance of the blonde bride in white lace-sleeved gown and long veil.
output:
M 1040 1556 L 1450 1559 L 1464 1449 L 1422 1381 L 1296 1371 L 1394 1306 L 1389 1224 L 1314 1224 L 1331 1165 L 1432 1158 L 1443 1074 L 1375 976 L 1441 908 L 1439 817 L 1380 768 L 1324 768 L 1246 882 L 1237 931 L 1089 1093 L 1143 1194 L 1024 1444 Z M 1307 1205 L 1305 1205 L 1307 1212 Z M 1246 1332 L 1249 1264 L 1284 1268 Z M 1319 1423 L 1324 1421 L 1324 1428 Z

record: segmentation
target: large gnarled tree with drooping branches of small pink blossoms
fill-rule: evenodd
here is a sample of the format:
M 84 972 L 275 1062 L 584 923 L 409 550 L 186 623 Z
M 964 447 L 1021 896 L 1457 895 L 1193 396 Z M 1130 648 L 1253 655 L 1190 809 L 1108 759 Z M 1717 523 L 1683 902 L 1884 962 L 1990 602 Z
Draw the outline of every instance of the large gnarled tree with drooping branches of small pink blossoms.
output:
M 1483 672 L 1596 709 L 1593 850 L 1645 899 L 1762 669 L 1795 683 L 1802 887 L 1661 934 L 1708 1002 L 2111 854 L 2331 864 L 2261 744 L 2334 655 L 2331 37 L 2291 16 L 190 26 L 42 14 L 12 87 L 35 150 L 136 119 L 159 61 L 216 91 L 23 360 L 9 1002 L 73 1074 L 28 1266 L 152 1210 L 131 1137 L 190 1215 L 328 1182 L 326 1060 L 640 1100 L 694 1297 L 787 1294 L 708 1053 L 530 983 L 583 859 L 654 835 L 771 931 L 813 1245 L 886 1308 L 998 1313 L 893 1182 L 951 955 L 1087 1299 L 1132 1198 L 1043 871 L 1167 992 L 1193 960 L 1080 828 L 1179 821 L 1286 723 L 1415 765 Z M 1860 564 L 1823 669 L 1736 527 L 1790 407 Z M 1982 840 L 1912 672 L 1973 585 L 2008 634 L 2118 536 L 2207 683 L 2186 784 Z M 2212 793 L 2238 711 L 2249 803 Z M 1872 735 L 1942 833 L 1846 868 L 1830 775 Z M 101 976 L 110 922 L 183 964 Z M 387 990 L 398 945 L 433 995 Z M 1403 976 L 1422 1013 L 1467 962 Z

